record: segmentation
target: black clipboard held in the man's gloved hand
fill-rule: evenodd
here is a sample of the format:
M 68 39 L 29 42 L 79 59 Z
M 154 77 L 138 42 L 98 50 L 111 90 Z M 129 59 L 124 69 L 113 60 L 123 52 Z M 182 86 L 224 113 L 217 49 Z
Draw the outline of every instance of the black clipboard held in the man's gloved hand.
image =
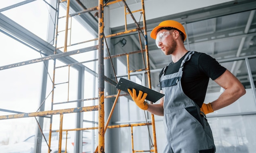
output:
M 160 98 L 164 96 L 164 94 L 161 94 L 159 92 L 156 92 L 155 90 L 149 89 L 148 87 L 144 87 L 142 85 L 139 85 L 135 82 L 132 82 L 130 80 L 120 78 L 116 85 L 117 89 L 120 89 L 126 93 L 129 93 L 127 89 L 132 90 L 133 88 L 136 90 L 136 94 L 139 94 L 139 90 L 141 90 L 143 93 L 147 93 L 146 100 L 151 101 L 153 103 L 157 102 Z

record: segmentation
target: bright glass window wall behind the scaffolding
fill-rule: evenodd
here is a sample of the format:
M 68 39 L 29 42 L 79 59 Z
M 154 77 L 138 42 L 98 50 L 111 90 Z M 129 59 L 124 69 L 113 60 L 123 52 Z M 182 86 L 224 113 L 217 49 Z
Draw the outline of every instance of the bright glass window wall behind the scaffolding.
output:
M 17 4 L 18 2 L 22 1 L 15 0 L 4 2 L 0 9 L 8 7 L 12 4 Z M 47 41 L 48 19 L 51 20 L 51 24 L 54 22 L 52 21 L 54 17 L 49 16 L 49 4 L 47 3 L 49 3 L 47 0 L 28 2 L 27 4 L 8 9 L 7 11 L 2 11 L 1 13 L 6 15 L 10 20 L 13 20 L 13 22 L 20 24 L 22 26 L 21 29 L 24 28 L 31 31 L 35 35 L 34 37 L 40 37 L 43 42 L 43 40 Z M 65 15 L 65 8 L 63 6 L 60 7 L 59 12 L 60 16 Z M 93 46 L 95 43 L 88 42 L 79 44 L 80 42 L 94 39 L 95 36 L 86 30 L 83 25 L 77 21 L 78 19 L 79 18 L 74 17 L 70 19 L 69 22 L 69 28 L 72 28 L 72 31 L 68 31 L 68 45 L 70 45 L 70 47 L 67 48 L 68 51 Z M 59 39 L 57 42 L 57 47 L 63 51 L 63 30 L 65 30 L 65 20 L 61 19 L 59 25 Z M 20 41 L 20 39 L 13 39 L 9 37 L 9 33 L 2 31 L 1 27 L 0 30 L 0 66 L 37 59 L 44 56 L 37 52 L 38 48 L 32 49 L 33 47 L 30 47 L 34 46 L 33 44 L 27 44 L 26 42 L 22 44 L 20 42 L 23 40 Z M 55 43 L 53 41 L 54 40 L 51 41 L 51 44 Z M 76 43 L 78 43 L 78 45 L 72 45 Z M 89 59 L 94 59 L 95 54 L 96 51 L 91 51 L 79 55 L 72 55 L 70 57 L 72 57 L 74 61 L 83 62 Z M 96 69 L 95 63 L 92 62 L 81 63 L 81 65 L 94 71 Z M 80 92 L 78 91 L 79 71 L 73 66 L 68 66 L 67 63 L 64 63 L 58 59 L 56 60 L 56 69 L 54 70 L 54 60 L 49 60 L 49 66 L 47 66 L 47 82 L 42 83 L 43 66 L 45 66 L 43 62 L 38 62 L 0 71 L 0 116 L 38 111 L 40 107 L 40 93 L 41 90 L 43 90 L 42 84 L 44 83 L 47 84 L 45 89 L 46 98 L 44 101 L 45 111 L 77 107 L 76 100 L 78 98 L 78 92 Z M 95 92 L 92 92 L 91 90 L 94 87 L 95 82 L 97 82 L 92 81 L 95 76 L 87 71 L 84 73 L 85 77 L 83 78 L 83 81 L 85 90 L 83 96 L 84 98 L 95 97 Z M 53 83 L 54 95 L 52 96 Z M 86 101 L 83 105 L 92 106 L 92 103 L 92 101 Z M 83 127 L 94 127 L 94 125 L 91 125 L 91 122 L 94 122 L 95 120 L 95 115 L 92 114 L 92 112 L 84 113 L 83 118 Z M 34 151 L 34 137 L 37 126 L 36 121 L 37 120 L 35 118 L 0 120 L 0 152 Z M 52 130 L 58 130 L 60 128 L 60 115 L 54 115 L 52 117 L 52 124 L 50 123 L 49 116 L 44 118 L 44 124 L 41 128 L 44 131 L 47 141 L 49 140 L 49 137 L 47 136 L 49 135 L 50 126 Z M 64 114 L 63 129 L 74 128 L 76 128 L 76 113 Z M 31 138 L 29 138 L 30 136 Z M 91 131 L 83 132 L 83 150 L 86 150 L 87 152 L 93 150 L 90 148 L 90 143 L 93 137 L 94 136 L 92 136 Z M 65 138 L 67 138 L 67 152 L 72 153 L 74 151 L 75 132 L 69 131 L 67 136 L 65 136 L 65 132 L 63 132 L 63 148 L 65 148 Z M 24 140 L 25 142 L 23 142 Z M 27 147 L 24 145 L 27 145 Z M 56 151 L 56 149 L 58 150 L 58 134 L 57 136 L 52 135 L 51 147 L 53 152 Z M 48 150 L 48 146 L 43 139 L 42 152 L 44 153 L 46 150 Z

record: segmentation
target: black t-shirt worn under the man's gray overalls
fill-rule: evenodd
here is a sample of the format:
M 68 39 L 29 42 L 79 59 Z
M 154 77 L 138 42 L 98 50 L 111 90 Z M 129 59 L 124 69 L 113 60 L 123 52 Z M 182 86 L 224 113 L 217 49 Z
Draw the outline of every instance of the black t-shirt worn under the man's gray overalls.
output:
M 164 75 L 178 72 L 184 57 L 185 55 L 176 63 L 171 62 L 167 66 Z M 162 76 L 163 70 L 160 72 L 159 78 Z M 205 53 L 195 52 L 191 56 L 191 59 L 184 64 L 181 78 L 183 92 L 201 107 L 204 102 L 209 78 L 215 80 L 220 77 L 225 70 L 226 68 L 221 66 L 216 59 L 213 59 Z M 162 90 L 162 87 L 160 87 L 160 90 Z

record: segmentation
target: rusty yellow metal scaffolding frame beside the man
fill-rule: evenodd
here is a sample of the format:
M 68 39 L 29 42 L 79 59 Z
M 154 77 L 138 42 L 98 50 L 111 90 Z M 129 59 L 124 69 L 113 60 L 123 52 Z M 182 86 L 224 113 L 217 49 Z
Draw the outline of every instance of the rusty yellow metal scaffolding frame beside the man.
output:
M 104 35 L 103 33 L 103 27 L 104 27 L 104 22 L 103 22 L 103 7 L 106 5 L 110 5 L 110 4 L 114 4 L 117 2 L 123 2 L 124 3 L 124 13 L 125 13 L 125 30 L 123 32 L 120 33 L 115 33 L 115 34 L 111 34 L 111 35 Z M 147 44 L 147 32 L 146 32 L 146 19 L 145 19 L 145 9 L 144 9 L 144 0 L 141 0 L 141 7 L 142 9 L 136 10 L 136 11 L 130 11 L 128 5 L 126 4 L 125 0 L 115 0 L 112 2 L 108 2 L 107 4 L 103 4 L 103 0 L 99 0 L 99 5 L 97 7 L 93 7 L 90 9 L 86 9 L 83 10 L 81 12 L 77 12 L 74 14 L 70 14 L 69 13 L 69 7 L 70 7 L 70 0 L 62 0 L 62 1 L 58 1 L 58 6 L 59 7 L 59 3 L 60 2 L 67 2 L 67 10 L 66 10 L 66 16 L 64 16 L 66 18 L 66 26 L 65 26 L 65 43 L 63 47 L 57 47 L 57 36 L 58 36 L 58 19 L 63 18 L 63 17 L 58 17 L 58 10 L 57 10 L 57 20 L 56 20 L 56 37 L 55 37 L 55 51 L 54 51 L 54 55 L 51 56 L 47 56 L 47 57 L 43 57 L 40 59 L 33 59 L 30 63 L 35 63 L 35 62 L 40 62 L 40 61 L 45 61 L 45 60 L 49 60 L 49 59 L 54 59 L 54 72 L 53 72 L 53 85 L 52 85 L 52 107 L 50 111 L 40 111 L 40 112 L 32 112 L 32 113 L 21 113 L 21 114 L 14 114 L 14 115 L 6 115 L 6 116 L 0 116 L 0 120 L 5 120 L 5 119 L 11 119 L 11 118 L 26 118 L 26 117 L 36 117 L 36 116 L 51 116 L 51 120 L 50 120 L 50 130 L 49 130 L 49 150 L 48 153 L 50 153 L 50 147 L 51 147 L 51 133 L 52 133 L 52 116 L 53 115 L 60 115 L 60 126 L 59 126 L 59 130 L 55 130 L 56 132 L 59 132 L 59 147 L 58 147 L 58 151 L 61 152 L 61 143 L 62 143 L 62 133 L 63 131 L 80 131 L 80 130 L 88 130 L 88 129 L 98 129 L 99 130 L 99 142 L 98 142 L 98 146 L 95 150 L 95 153 L 104 153 L 105 149 L 104 149 L 104 134 L 106 132 L 106 130 L 108 128 L 120 128 L 120 127 L 131 127 L 131 138 L 132 138 L 132 153 L 135 152 L 154 152 L 157 153 L 157 143 L 156 143 L 156 135 L 155 135 L 155 119 L 154 119 L 154 115 L 151 114 L 151 122 L 146 122 L 146 123 L 140 123 L 140 124 L 129 124 L 129 125 L 115 125 L 115 126 L 108 126 L 108 123 L 110 121 L 110 118 L 112 116 L 113 110 L 115 109 L 115 104 L 117 103 L 117 100 L 119 98 L 119 96 L 127 96 L 128 94 L 120 94 L 120 90 L 118 90 L 117 95 L 110 95 L 110 96 L 104 96 L 104 82 L 107 81 L 111 84 L 116 84 L 117 83 L 117 78 L 116 81 L 112 81 L 111 79 L 107 78 L 104 75 L 104 59 L 110 59 L 111 58 L 115 58 L 115 57 L 120 57 L 120 56 L 126 56 L 127 58 L 127 68 L 128 68 L 128 79 L 130 79 L 130 72 L 138 72 L 138 71 L 145 71 L 145 73 L 147 74 L 147 78 L 148 78 L 148 87 L 151 89 L 151 81 L 150 81 L 150 64 L 149 64 L 149 57 L 148 57 L 148 44 Z M 67 44 L 67 35 L 68 35 L 68 31 L 71 30 L 71 28 L 68 28 L 68 23 L 69 23 L 69 18 L 75 15 L 80 15 L 82 13 L 87 13 L 90 11 L 95 11 L 98 10 L 98 18 L 99 18 L 99 23 L 98 23 L 98 38 L 97 39 L 92 39 L 89 41 L 84 41 L 84 42 L 79 42 L 76 44 Z M 128 12 L 127 12 L 128 11 Z M 140 27 L 139 24 L 137 23 L 137 21 L 135 20 L 135 18 L 133 17 L 132 13 L 135 12 L 141 12 L 142 16 L 143 16 L 143 27 Z M 131 30 L 127 30 L 127 22 L 126 22 L 126 15 L 131 15 L 132 19 L 134 20 L 135 24 L 136 24 L 136 28 L 131 29 Z M 142 31 L 144 30 L 144 32 Z M 132 51 L 132 52 L 127 52 L 124 54 L 119 54 L 119 55 L 112 55 L 109 57 L 104 57 L 103 55 L 103 44 L 104 44 L 104 39 L 108 38 L 108 37 L 114 37 L 117 35 L 123 35 L 123 34 L 127 34 L 127 33 L 133 33 L 133 32 L 138 32 L 139 35 L 139 42 L 140 42 L 140 47 L 141 50 L 137 50 L 137 51 Z M 59 31 L 61 32 L 61 31 Z M 142 47 L 142 43 L 141 43 L 141 35 L 143 35 L 144 40 L 145 40 L 145 48 Z M 68 96 L 67 96 L 67 102 L 81 102 L 81 101 L 88 101 L 88 100 L 96 100 L 98 99 L 99 101 L 99 105 L 97 106 L 90 106 L 90 107 L 77 107 L 77 108 L 70 108 L 70 109 L 59 109 L 59 110 L 52 110 L 53 109 L 53 105 L 54 104 L 60 104 L 60 103 L 54 103 L 54 86 L 55 84 L 55 70 L 56 68 L 62 68 L 64 66 L 60 66 L 60 67 L 56 67 L 56 59 L 59 57 L 64 57 L 64 56 L 70 56 L 70 55 L 74 55 L 74 54 L 78 54 L 81 52 L 76 52 L 75 51 L 67 51 L 67 47 L 69 46 L 74 46 L 77 44 L 82 44 L 82 43 L 86 43 L 86 42 L 91 42 L 91 41 L 96 41 L 98 40 L 99 44 L 96 46 L 92 46 L 92 47 L 88 47 L 85 50 L 98 50 L 99 51 L 99 75 L 98 75 L 98 79 L 99 79 L 99 96 L 97 98 L 89 98 L 89 99 L 79 99 L 77 101 L 69 101 L 69 80 L 67 82 L 68 84 Z M 63 49 L 63 53 L 56 53 L 56 50 L 60 49 L 60 48 L 64 48 Z M 138 54 L 141 53 L 142 57 L 143 57 L 143 61 L 145 62 L 144 59 L 144 52 L 146 54 L 146 64 L 144 63 L 144 69 L 139 69 L 139 70 L 130 70 L 130 65 L 129 65 L 129 55 L 130 54 Z M 93 59 L 90 61 L 95 61 L 97 59 Z M 76 65 L 76 64 L 81 64 L 81 63 L 85 63 L 85 62 L 89 62 L 89 61 L 84 61 L 84 62 L 79 62 L 79 63 L 73 63 L 73 64 L 69 64 L 67 65 L 69 68 L 69 74 L 70 74 L 70 66 L 72 65 Z M 25 62 L 27 64 L 30 64 L 29 61 Z M 68 76 L 69 78 L 69 76 Z M 115 102 L 114 105 L 112 106 L 110 115 L 108 116 L 108 120 L 105 124 L 104 122 L 104 116 L 105 116 L 105 112 L 104 112 L 104 98 L 111 98 L 111 97 L 115 97 Z M 91 128 L 77 128 L 77 129 L 63 129 L 63 114 L 68 114 L 68 113 L 79 113 L 79 112 L 85 112 L 85 111 L 99 111 L 99 126 L 98 127 L 91 127 Z M 134 150 L 134 145 L 133 145 L 133 127 L 135 126 L 148 126 L 148 125 L 152 125 L 152 130 L 153 130 L 153 149 L 147 150 L 147 151 L 135 151 Z

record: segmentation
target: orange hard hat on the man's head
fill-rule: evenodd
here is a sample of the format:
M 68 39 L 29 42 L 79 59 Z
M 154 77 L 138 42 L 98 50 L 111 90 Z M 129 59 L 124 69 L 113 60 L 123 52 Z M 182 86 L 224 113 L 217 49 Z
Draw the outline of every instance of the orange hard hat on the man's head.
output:
M 157 30 L 159 28 L 162 28 L 162 27 L 171 27 L 171 28 L 178 29 L 179 31 L 181 31 L 184 34 L 183 41 L 185 41 L 186 32 L 185 32 L 184 27 L 182 26 L 182 24 L 180 22 L 177 22 L 177 21 L 174 21 L 174 20 L 166 20 L 166 21 L 163 21 L 163 22 L 159 23 L 159 25 L 156 26 L 155 28 L 153 28 L 153 30 L 151 31 L 150 37 L 153 38 L 153 39 L 156 39 L 157 38 Z

